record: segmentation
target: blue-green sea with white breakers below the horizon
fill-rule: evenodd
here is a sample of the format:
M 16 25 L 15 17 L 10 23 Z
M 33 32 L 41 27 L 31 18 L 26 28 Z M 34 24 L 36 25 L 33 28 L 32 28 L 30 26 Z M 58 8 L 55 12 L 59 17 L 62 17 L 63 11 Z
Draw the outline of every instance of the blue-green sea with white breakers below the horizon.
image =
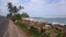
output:
M 37 22 L 66 25 L 66 18 L 34 18 Z

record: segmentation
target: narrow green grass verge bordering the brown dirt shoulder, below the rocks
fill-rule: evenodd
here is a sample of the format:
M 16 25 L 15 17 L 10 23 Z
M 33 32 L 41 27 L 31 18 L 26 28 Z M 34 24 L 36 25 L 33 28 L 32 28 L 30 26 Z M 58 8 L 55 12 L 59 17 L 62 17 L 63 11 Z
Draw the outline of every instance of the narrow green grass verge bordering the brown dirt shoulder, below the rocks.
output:
M 42 34 L 38 34 L 37 32 L 33 30 L 33 29 L 26 29 L 25 28 L 25 25 L 22 24 L 22 23 L 18 23 L 18 26 L 23 29 L 25 33 L 28 33 L 31 37 L 48 37 L 50 35 L 48 34 L 45 34 L 45 35 L 42 35 Z

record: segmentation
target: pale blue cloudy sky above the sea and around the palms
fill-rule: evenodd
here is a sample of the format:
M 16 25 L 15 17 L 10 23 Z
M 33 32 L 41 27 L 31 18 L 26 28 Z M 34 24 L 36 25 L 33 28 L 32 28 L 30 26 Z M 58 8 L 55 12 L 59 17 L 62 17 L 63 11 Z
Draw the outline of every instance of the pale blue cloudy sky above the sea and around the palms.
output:
M 9 13 L 7 3 L 22 5 L 31 17 L 66 17 L 66 0 L 0 0 L 0 15 Z

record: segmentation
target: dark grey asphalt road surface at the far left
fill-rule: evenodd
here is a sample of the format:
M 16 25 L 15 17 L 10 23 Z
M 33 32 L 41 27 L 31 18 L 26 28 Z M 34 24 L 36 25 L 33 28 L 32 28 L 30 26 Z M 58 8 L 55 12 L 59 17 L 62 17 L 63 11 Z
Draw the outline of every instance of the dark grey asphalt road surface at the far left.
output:
M 2 17 L 0 20 L 0 37 L 3 37 L 6 30 L 8 29 L 9 20 L 7 17 Z

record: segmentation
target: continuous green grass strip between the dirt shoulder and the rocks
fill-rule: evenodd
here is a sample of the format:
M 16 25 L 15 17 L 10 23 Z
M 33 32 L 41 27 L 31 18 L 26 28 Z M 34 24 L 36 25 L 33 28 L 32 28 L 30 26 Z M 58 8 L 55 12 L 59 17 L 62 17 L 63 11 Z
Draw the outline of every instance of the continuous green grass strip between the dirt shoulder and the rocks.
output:
M 21 23 L 18 22 L 16 25 L 19 27 L 21 27 L 21 29 L 23 29 L 25 33 L 28 33 L 30 35 L 30 37 L 48 37 L 48 34 L 42 35 L 41 33 L 38 34 L 37 30 L 35 30 L 34 28 L 28 29 L 26 25 L 29 24 L 29 22 L 25 23 Z

